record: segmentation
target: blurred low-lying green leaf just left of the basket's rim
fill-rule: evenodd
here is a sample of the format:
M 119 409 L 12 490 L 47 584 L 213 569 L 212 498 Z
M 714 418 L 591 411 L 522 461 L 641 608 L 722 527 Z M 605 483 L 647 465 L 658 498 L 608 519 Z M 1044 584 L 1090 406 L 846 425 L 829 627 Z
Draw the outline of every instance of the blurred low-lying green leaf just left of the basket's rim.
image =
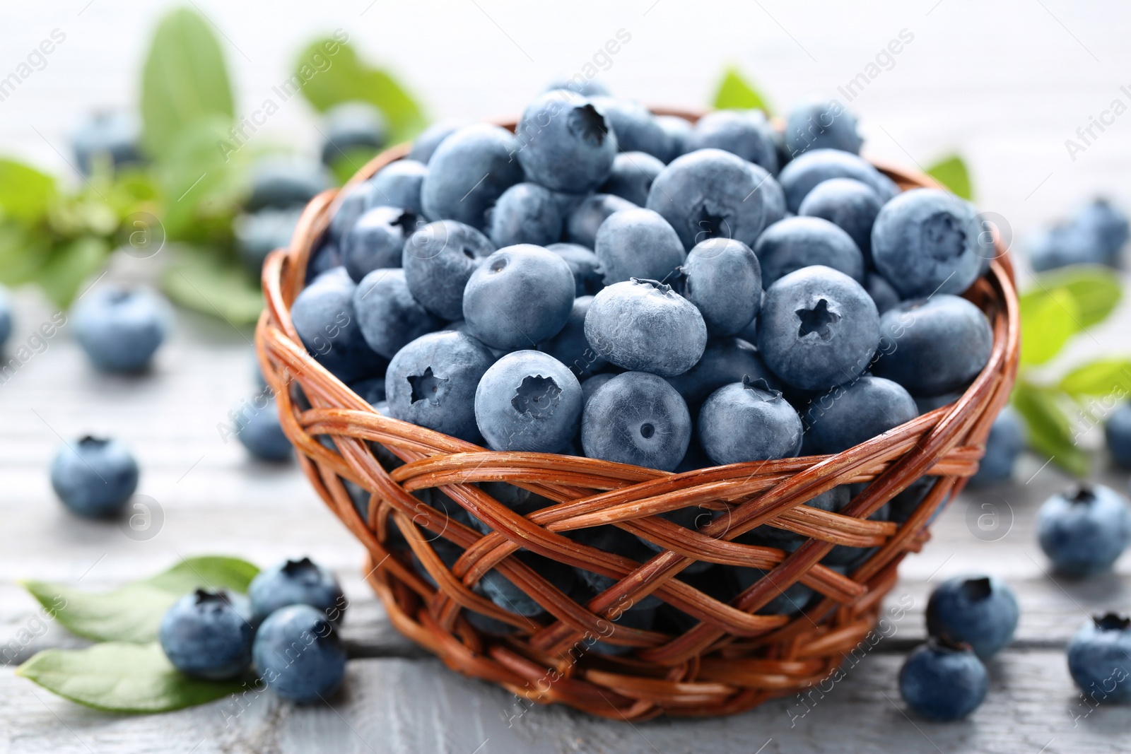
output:
M 179 254 L 178 261 L 162 276 L 161 285 L 182 306 L 233 326 L 252 324 L 264 311 L 257 281 L 239 263 L 223 260 L 208 250 Z

